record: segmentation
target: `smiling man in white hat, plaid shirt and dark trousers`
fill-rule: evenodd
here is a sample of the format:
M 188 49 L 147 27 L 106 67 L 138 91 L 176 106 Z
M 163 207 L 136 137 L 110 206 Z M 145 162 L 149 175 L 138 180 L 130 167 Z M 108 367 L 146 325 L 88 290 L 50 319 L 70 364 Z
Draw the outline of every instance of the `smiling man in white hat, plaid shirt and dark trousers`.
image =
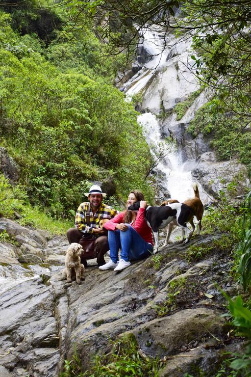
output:
M 93 185 L 89 192 L 85 192 L 84 194 L 88 196 L 89 202 L 83 202 L 78 207 L 75 216 L 75 228 L 68 229 L 67 238 L 69 243 L 79 243 L 84 235 L 95 235 L 97 237 L 95 241 L 97 263 L 99 266 L 102 266 L 105 264 L 104 254 L 109 250 L 109 245 L 106 231 L 100 229 L 99 223 L 101 219 L 113 218 L 117 215 L 118 211 L 102 203 L 106 193 L 102 192 L 100 186 Z M 87 267 L 86 259 L 81 258 L 81 262 Z

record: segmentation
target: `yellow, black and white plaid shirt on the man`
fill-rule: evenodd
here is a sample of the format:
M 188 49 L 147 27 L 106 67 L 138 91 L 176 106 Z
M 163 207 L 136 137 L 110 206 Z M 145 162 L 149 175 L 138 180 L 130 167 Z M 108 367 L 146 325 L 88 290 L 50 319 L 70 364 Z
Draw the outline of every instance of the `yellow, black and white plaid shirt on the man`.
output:
M 90 226 L 87 224 L 87 210 L 90 209 Z M 81 203 L 76 211 L 75 227 L 83 233 L 93 233 L 93 228 L 99 228 L 99 223 L 102 218 L 113 218 L 119 212 L 112 207 L 101 203 L 99 210 L 93 215 L 92 208 L 89 202 Z

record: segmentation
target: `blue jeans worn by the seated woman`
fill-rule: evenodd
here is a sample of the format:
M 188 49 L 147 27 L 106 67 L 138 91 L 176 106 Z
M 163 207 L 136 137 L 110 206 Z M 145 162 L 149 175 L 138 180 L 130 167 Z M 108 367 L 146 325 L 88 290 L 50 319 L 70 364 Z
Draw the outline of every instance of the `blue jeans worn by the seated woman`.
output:
M 119 249 L 121 259 L 124 261 L 144 259 L 152 254 L 153 246 L 146 242 L 136 230 L 129 224 L 127 230 L 108 230 L 108 242 L 110 247 L 110 258 L 116 263 L 119 260 Z

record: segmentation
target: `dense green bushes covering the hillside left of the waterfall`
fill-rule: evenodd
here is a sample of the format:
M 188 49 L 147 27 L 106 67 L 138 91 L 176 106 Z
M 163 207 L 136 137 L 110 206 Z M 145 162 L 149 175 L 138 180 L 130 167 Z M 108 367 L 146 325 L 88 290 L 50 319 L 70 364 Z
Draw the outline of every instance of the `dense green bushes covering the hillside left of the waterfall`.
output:
M 104 56 L 89 24 L 66 23 L 67 8 L 38 8 L 0 8 L 0 146 L 20 166 L 26 202 L 69 218 L 90 182 L 109 177 L 117 199 L 139 188 L 151 200 L 148 146 L 113 86 L 123 55 Z

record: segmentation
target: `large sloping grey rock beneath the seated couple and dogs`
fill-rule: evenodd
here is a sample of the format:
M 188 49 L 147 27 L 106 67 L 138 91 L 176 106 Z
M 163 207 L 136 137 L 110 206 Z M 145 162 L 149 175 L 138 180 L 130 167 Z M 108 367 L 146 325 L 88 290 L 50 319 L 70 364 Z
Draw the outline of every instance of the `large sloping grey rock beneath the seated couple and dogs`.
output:
M 3 224 L 8 232 L 10 225 L 15 227 L 1 219 Z M 42 250 L 43 264 L 22 265 L 22 245 L 0 244 L 15 260 L 0 263 L 0 282 L 5 282 L 0 295 L 0 376 L 58 376 L 75 350 L 86 369 L 95 354 L 110 350 L 109 339 L 125 333 L 135 335 L 146 355 L 163 360 L 162 377 L 181 377 L 195 367 L 208 373 L 225 351 L 241 346 L 227 334 L 223 297 L 214 286 L 217 282 L 234 294 L 228 275 L 230 250 L 219 247 L 221 234 L 193 237 L 186 246 L 168 245 L 120 273 L 100 271 L 91 261 L 80 286 L 61 279 L 66 240 L 49 241 L 20 226 L 12 234 L 19 242 L 23 237 L 22 245 L 32 246 L 31 254 L 37 249 L 40 258 Z M 192 245 L 208 253 L 192 261 Z M 22 282 L 15 280 L 17 270 Z

